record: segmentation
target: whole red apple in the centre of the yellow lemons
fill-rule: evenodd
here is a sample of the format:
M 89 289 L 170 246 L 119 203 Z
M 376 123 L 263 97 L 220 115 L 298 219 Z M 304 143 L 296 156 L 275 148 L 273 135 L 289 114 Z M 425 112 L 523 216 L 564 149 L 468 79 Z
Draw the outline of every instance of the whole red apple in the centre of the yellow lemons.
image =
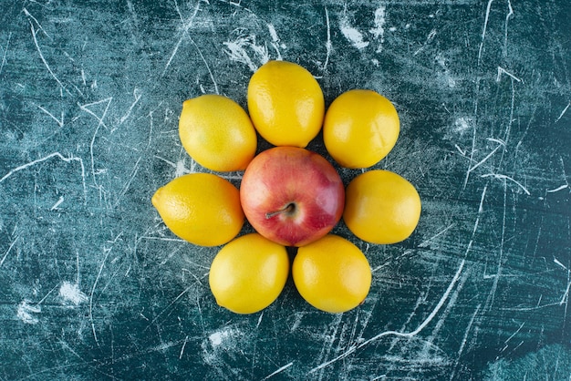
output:
M 304 246 L 330 232 L 345 207 L 345 187 L 323 156 L 275 147 L 254 157 L 240 201 L 256 232 L 285 246 Z

